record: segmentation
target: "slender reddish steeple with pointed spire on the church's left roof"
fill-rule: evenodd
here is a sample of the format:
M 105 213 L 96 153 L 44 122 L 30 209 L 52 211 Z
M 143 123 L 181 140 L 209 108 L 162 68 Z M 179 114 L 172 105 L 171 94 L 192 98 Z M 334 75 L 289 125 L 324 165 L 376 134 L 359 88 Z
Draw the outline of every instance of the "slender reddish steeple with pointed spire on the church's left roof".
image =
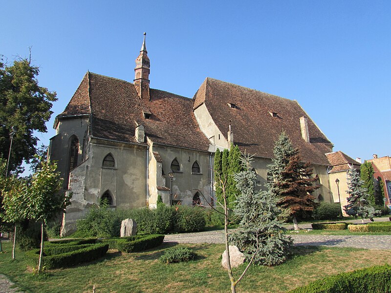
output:
M 150 59 L 148 58 L 147 46 L 144 42 L 141 46 L 140 55 L 136 58 L 136 67 L 134 68 L 134 86 L 140 98 L 150 99 Z

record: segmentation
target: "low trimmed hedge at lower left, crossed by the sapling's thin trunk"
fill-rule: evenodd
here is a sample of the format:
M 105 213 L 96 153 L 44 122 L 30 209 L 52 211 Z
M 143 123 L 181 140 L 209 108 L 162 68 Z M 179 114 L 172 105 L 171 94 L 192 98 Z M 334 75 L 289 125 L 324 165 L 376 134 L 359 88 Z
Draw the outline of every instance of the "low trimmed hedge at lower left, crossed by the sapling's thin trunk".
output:
M 47 269 L 63 268 L 83 262 L 89 262 L 102 257 L 109 250 L 109 245 L 81 244 L 81 245 L 52 245 L 43 249 L 43 264 Z M 27 263 L 38 265 L 40 250 L 35 249 L 25 253 Z

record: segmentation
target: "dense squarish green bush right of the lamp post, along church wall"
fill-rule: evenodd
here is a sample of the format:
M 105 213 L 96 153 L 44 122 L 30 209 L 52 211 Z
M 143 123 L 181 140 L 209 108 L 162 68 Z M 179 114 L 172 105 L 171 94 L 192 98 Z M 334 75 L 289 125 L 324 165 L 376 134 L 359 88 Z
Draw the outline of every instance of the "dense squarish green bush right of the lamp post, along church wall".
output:
M 184 233 L 204 230 L 204 212 L 204 209 L 201 207 L 177 206 L 174 231 Z

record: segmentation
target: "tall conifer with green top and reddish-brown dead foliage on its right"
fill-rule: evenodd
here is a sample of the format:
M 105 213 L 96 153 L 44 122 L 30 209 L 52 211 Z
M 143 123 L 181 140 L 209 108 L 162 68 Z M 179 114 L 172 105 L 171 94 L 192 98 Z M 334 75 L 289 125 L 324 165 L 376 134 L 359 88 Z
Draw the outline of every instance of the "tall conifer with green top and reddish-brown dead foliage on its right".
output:
M 316 178 L 311 178 L 312 168 L 309 163 L 302 164 L 299 149 L 292 146 L 283 131 L 274 147 L 273 164 L 268 165 L 274 181 L 267 187 L 278 198 L 277 205 L 285 216 L 291 217 L 295 230 L 299 230 L 297 217 L 308 217 L 317 206 L 311 193 L 319 188 Z

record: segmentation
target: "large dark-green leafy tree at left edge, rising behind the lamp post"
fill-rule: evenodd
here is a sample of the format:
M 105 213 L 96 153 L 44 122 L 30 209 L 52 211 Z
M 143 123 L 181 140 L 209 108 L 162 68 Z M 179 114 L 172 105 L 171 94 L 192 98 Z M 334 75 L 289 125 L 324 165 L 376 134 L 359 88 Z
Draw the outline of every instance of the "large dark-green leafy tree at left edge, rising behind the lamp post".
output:
M 7 158 L 11 127 L 16 132 L 11 152 L 10 170 L 16 170 L 22 161 L 27 163 L 37 152 L 34 131 L 46 132 L 52 102 L 56 93 L 39 86 L 39 68 L 27 59 L 19 59 L 11 66 L 0 59 L 0 157 Z

